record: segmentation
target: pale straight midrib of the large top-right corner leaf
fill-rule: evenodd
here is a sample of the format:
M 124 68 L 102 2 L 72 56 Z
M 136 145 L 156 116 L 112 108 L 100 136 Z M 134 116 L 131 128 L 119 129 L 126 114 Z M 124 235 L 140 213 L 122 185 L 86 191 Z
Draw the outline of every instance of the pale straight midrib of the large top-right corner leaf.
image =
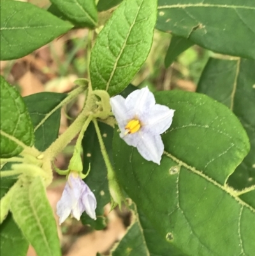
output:
M 169 5 L 162 5 L 158 6 L 157 9 L 172 9 L 172 8 L 192 8 L 192 7 L 217 7 L 217 8 L 230 8 L 230 9 L 246 9 L 246 10 L 255 10 L 255 6 L 240 6 L 240 5 L 228 5 L 228 4 L 203 4 L 203 3 L 198 3 L 198 4 L 169 4 Z

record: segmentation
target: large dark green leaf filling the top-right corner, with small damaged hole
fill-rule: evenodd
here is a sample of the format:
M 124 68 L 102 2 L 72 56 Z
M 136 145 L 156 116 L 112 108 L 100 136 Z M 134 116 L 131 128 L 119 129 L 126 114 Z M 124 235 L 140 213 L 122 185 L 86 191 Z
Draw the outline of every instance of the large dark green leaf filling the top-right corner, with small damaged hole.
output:
M 159 0 L 157 29 L 215 52 L 255 59 L 254 17 L 254 1 Z

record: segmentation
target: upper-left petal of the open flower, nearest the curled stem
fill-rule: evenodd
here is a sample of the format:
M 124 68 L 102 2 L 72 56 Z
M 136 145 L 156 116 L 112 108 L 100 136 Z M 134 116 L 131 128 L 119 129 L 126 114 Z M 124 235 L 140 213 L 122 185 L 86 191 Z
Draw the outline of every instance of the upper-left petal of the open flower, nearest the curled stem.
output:
M 110 98 L 110 105 L 112 106 L 112 112 L 119 124 L 120 130 L 125 130 L 125 126 L 131 118 L 125 105 L 125 99 L 120 95 L 114 96 Z

